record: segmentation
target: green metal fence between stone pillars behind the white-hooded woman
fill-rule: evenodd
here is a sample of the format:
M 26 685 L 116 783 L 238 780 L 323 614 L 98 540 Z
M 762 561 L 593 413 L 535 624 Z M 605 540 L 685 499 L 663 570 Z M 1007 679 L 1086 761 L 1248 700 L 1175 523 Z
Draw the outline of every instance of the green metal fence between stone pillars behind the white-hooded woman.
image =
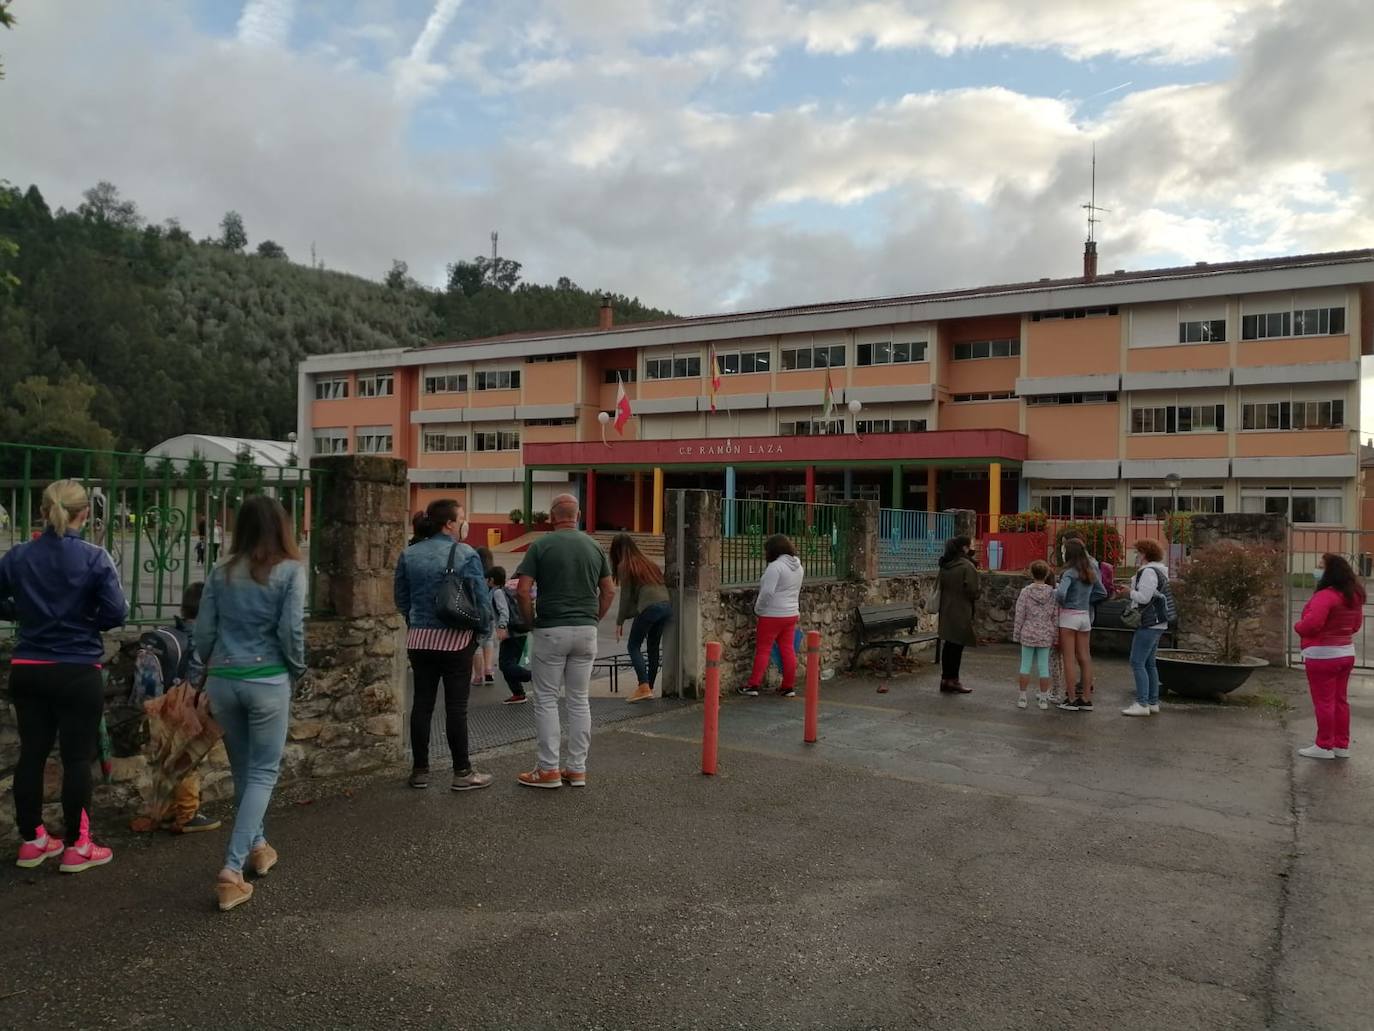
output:
M 849 507 L 804 502 L 721 500 L 720 583 L 741 587 L 763 576 L 764 542 L 785 533 L 808 580 L 849 576 Z

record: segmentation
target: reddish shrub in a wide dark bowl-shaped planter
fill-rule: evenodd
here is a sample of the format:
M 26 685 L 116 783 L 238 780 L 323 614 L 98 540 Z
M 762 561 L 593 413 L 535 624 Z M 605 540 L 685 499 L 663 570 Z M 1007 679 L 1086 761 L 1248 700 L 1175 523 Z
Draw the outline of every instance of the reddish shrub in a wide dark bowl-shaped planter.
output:
M 1176 581 L 1179 619 L 1208 636 L 1209 649 L 1160 649 L 1160 683 L 1175 694 L 1228 694 L 1268 665 L 1246 656 L 1242 624 L 1260 614 L 1281 581 L 1282 553 L 1264 544 L 1221 542 L 1197 551 Z

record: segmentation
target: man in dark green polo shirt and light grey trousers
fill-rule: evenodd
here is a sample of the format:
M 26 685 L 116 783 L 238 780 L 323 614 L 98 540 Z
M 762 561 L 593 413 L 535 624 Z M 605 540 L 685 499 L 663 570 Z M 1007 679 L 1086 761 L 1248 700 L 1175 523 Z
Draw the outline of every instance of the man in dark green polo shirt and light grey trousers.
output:
M 539 764 L 519 775 L 528 788 L 587 786 L 592 740 L 591 683 L 596 661 L 596 624 L 610 610 L 616 587 L 606 553 L 577 529 L 577 499 L 561 494 L 550 506 L 554 532 L 525 553 L 515 570 L 515 597 L 530 635 L 530 686 Z M 534 610 L 534 588 L 539 610 Z M 559 766 L 558 694 L 567 702 L 567 766 Z

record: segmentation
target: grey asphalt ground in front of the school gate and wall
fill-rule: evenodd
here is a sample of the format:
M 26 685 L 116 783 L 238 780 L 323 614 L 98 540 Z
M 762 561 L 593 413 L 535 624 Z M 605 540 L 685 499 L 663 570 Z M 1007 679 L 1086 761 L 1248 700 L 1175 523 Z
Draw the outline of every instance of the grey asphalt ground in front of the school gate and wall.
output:
M 1356 757 L 1296 759 L 1294 674 L 1250 704 L 1018 711 L 1009 649 L 731 700 L 594 741 L 587 790 L 397 775 L 269 819 L 280 866 L 218 914 L 223 833 L 0 873 L 0 1024 L 473 1028 L 1367 1028 L 1374 689 Z M 1110 696 L 1120 696 L 1113 698 Z M 1286 708 L 1292 704 L 1294 708 Z M 633 708 L 633 707 L 631 707 Z M 18 994 L 14 994 L 18 993 Z

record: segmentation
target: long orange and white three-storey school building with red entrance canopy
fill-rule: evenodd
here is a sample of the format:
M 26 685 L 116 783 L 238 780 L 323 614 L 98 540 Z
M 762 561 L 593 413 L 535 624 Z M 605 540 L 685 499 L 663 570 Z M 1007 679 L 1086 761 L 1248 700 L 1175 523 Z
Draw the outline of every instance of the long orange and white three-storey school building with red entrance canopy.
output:
M 703 487 L 1358 526 L 1370 353 L 1374 250 L 1098 274 L 1090 243 L 1072 279 L 315 356 L 298 433 L 405 459 L 412 507 L 477 525 L 572 491 L 594 529 L 657 532 Z

